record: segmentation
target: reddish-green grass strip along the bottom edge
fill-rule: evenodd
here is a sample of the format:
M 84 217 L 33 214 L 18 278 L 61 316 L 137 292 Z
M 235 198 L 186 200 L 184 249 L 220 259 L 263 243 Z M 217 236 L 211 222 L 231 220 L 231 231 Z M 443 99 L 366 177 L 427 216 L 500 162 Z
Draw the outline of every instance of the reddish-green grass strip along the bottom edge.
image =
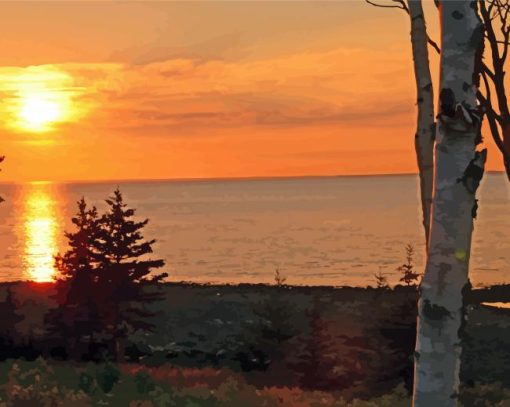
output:
M 510 406 L 499 384 L 463 389 L 464 407 Z M 403 386 L 370 400 L 298 387 L 249 385 L 228 369 L 146 368 L 111 363 L 8 360 L 0 366 L 0 407 L 408 407 Z

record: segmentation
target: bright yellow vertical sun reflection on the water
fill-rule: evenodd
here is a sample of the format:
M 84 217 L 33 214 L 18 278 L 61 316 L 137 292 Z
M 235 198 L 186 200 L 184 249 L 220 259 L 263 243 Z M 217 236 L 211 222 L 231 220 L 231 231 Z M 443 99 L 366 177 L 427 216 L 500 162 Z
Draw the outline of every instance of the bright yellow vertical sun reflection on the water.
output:
M 25 275 L 32 281 L 51 281 L 56 273 L 58 222 L 53 192 L 51 184 L 32 183 L 24 199 L 23 263 Z

